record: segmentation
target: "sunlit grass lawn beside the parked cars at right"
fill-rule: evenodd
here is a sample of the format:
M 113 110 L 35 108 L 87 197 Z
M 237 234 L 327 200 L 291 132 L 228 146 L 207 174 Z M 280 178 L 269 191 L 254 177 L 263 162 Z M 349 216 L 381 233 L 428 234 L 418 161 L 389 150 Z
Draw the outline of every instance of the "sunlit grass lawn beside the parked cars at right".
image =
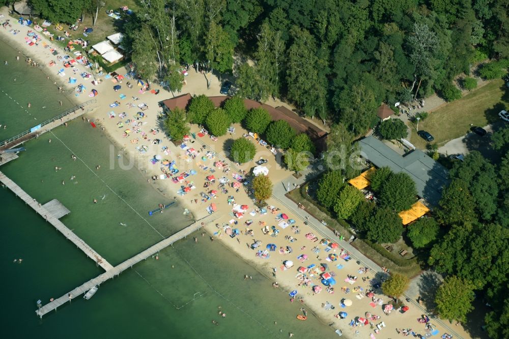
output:
M 470 124 L 484 127 L 499 120 L 498 112 L 507 108 L 509 90 L 497 79 L 430 113 L 425 121 L 419 122 L 419 130 L 430 132 L 435 137 L 434 143 L 442 146 L 469 132 Z M 413 127 L 411 143 L 419 149 L 426 148 L 427 142 Z

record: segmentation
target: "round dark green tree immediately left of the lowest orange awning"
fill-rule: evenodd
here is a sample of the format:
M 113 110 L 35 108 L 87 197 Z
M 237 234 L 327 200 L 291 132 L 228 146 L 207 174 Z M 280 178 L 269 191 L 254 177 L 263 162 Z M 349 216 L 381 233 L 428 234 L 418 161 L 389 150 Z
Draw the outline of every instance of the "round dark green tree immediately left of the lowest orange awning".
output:
M 378 208 L 366 222 L 367 239 L 376 243 L 394 243 L 403 233 L 400 216 L 387 207 Z

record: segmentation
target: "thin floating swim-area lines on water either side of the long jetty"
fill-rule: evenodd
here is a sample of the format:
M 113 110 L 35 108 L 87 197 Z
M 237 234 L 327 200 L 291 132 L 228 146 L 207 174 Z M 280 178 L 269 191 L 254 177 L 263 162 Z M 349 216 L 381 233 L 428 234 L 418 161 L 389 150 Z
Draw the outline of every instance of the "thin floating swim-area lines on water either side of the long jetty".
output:
M 64 145 L 65 148 L 67 148 L 71 154 L 74 154 L 76 156 L 76 158 L 81 161 L 89 170 L 90 172 L 92 172 L 99 180 L 102 181 L 102 183 L 111 191 L 113 192 L 115 195 L 117 195 L 119 197 L 120 200 L 122 200 L 130 209 L 132 209 L 134 211 L 134 213 L 136 213 L 140 218 L 142 218 L 157 234 L 159 234 L 163 239 L 165 239 L 165 237 L 159 233 L 159 231 L 157 231 L 153 226 L 152 224 L 147 220 L 145 219 L 142 215 L 140 215 L 131 205 L 129 205 L 128 202 L 126 202 L 120 195 L 117 194 L 117 192 L 115 192 L 103 179 L 101 179 L 101 177 L 99 177 L 97 175 L 96 172 L 94 172 L 92 170 L 92 168 L 90 168 L 89 165 L 87 165 L 86 162 L 84 162 L 79 156 L 76 155 L 76 153 L 71 150 L 69 148 L 69 146 L 67 146 L 63 141 L 62 139 L 60 139 L 58 136 L 56 136 L 53 131 L 51 130 L 50 133 L 57 139 L 59 140 L 62 145 Z M 172 247 L 175 248 L 172 244 Z M 179 257 L 184 260 L 187 265 L 189 265 L 189 267 L 194 271 L 194 273 L 196 273 L 197 276 L 199 276 L 203 281 L 204 283 L 215 293 L 217 294 L 219 297 L 221 297 L 222 299 L 228 301 L 230 304 L 232 304 L 233 306 L 235 306 L 238 310 L 240 310 L 243 314 L 245 314 L 248 318 L 252 319 L 254 322 L 256 322 L 258 325 L 262 326 L 265 330 L 267 330 L 269 333 L 273 334 L 274 336 L 278 336 L 276 333 L 274 333 L 273 331 L 271 331 L 267 326 L 265 326 L 264 324 L 262 324 L 261 322 L 259 322 L 258 320 L 254 319 L 249 313 L 247 313 L 244 309 L 242 309 L 241 307 L 239 307 L 236 303 L 234 303 L 233 301 L 231 301 L 230 299 L 228 299 L 227 297 L 223 296 L 221 293 L 219 293 L 218 291 L 216 291 L 209 283 L 208 281 L 200 274 L 198 273 L 194 267 L 191 266 L 191 264 L 187 261 L 187 259 L 185 259 L 181 254 L 180 252 L 175 248 L 175 250 L 177 251 Z M 171 303 L 175 308 L 177 309 L 180 309 L 182 307 L 184 307 L 185 305 L 187 305 L 188 303 L 192 302 L 194 299 L 197 299 L 197 298 L 193 298 L 191 300 L 189 300 L 187 303 L 185 303 L 184 305 L 180 306 L 180 307 L 177 307 L 173 302 L 171 302 L 167 297 L 165 297 L 159 290 L 157 290 L 144 276 L 142 276 L 138 271 L 134 270 L 142 279 L 144 279 L 146 281 L 146 283 L 152 287 L 157 293 L 159 293 L 159 295 L 161 295 L 166 301 L 168 301 L 169 303 Z M 201 293 L 200 292 L 200 297 L 205 295 L 205 293 Z

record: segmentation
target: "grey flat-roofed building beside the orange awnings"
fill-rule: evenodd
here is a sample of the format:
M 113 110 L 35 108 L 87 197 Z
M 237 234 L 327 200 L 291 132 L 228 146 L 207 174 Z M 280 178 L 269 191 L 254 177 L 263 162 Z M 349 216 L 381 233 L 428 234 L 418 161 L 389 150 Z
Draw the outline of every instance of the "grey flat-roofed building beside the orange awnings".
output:
M 415 182 L 417 194 L 432 206 L 442 197 L 442 188 L 449 183 L 444 166 L 420 150 L 400 155 L 379 139 L 369 136 L 359 140 L 361 156 L 376 167 L 388 166 L 392 172 L 404 172 Z

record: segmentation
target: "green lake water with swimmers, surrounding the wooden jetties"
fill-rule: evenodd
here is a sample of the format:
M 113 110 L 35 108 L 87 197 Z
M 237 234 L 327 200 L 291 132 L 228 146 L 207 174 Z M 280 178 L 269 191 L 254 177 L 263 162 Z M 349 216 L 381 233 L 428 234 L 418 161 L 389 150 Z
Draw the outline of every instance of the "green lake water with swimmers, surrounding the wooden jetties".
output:
M 0 130 L 0 139 L 33 127 L 34 116 L 45 120 L 73 105 L 48 86 L 40 70 L 22 60 L 16 64 L 16 54 L 0 40 L 0 60 L 9 60 L 8 66 L 0 65 L 0 78 L 19 74 L 15 85 L 2 83 L 9 95 L 0 95 L 0 122 L 8 128 Z M 27 77 L 23 82 L 22 75 Z M 11 99 L 23 101 L 26 93 L 39 98 L 31 98 L 30 116 Z M 136 168 L 110 168 L 119 151 L 111 149 L 100 129 L 78 119 L 52 133 L 26 143 L 26 151 L 0 170 L 41 203 L 62 202 L 71 213 L 61 220 L 112 265 L 192 222 L 178 205 L 148 216 L 159 203 L 171 202 L 173 192 L 158 191 Z M 73 161 L 71 154 L 78 159 Z M 95 168 L 98 164 L 100 170 Z M 62 169 L 55 172 L 55 166 Z M 0 225 L 4 337 L 286 338 L 289 332 L 297 338 L 337 336 L 311 314 L 305 322 L 296 320 L 300 304 L 290 304 L 288 294 L 272 289 L 268 278 L 199 234 L 199 243 L 192 237 L 181 240 L 163 250 L 159 260 L 139 263 L 102 284 L 91 300 L 76 298 L 41 320 L 35 314 L 38 299 L 46 303 L 60 297 L 102 270 L 4 188 Z M 17 258 L 22 264 L 13 262 Z M 244 281 L 244 274 L 253 279 Z M 218 316 L 218 306 L 226 318 Z M 212 319 L 220 325 L 213 325 Z

